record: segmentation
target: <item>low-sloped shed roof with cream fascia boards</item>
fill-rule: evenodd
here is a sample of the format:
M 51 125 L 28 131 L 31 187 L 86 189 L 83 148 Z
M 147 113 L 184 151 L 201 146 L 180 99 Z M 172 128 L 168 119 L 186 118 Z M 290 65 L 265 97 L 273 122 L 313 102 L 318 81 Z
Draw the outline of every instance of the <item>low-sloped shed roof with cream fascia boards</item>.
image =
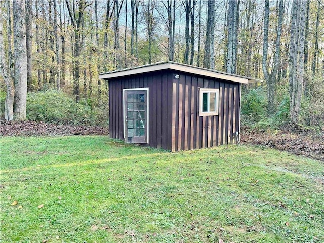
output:
M 224 80 L 229 80 L 236 83 L 242 83 L 242 84 L 249 84 L 249 83 L 256 83 L 256 82 L 262 82 L 260 79 L 252 78 L 252 77 L 246 77 L 246 76 L 240 76 L 235 75 L 231 73 L 226 72 L 220 72 L 212 69 L 207 69 L 203 67 L 195 67 L 183 63 L 178 62 L 160 62 L 160 63 L 154 63 L 144 66 L 138 66 L 138 67 L 132 67 L 128 69 L 119 69 L 111 72 L 101 73 L 99 75 L 99 79 L 109 79 L 109 78 L 115 78 L 115 77 L 123 77 L 123 76 L 129 76 L 134 74 L 140 74 L 140 73 L 147 73 L 152 71 L 160 71 L 160 70 L 166 70 L 171 69 L 175 71 L 183 71 L 187 73 L 197 74 L 197 75 L 203 75 L 207 77 L 213 77 L 213 78 L 220 78 Z

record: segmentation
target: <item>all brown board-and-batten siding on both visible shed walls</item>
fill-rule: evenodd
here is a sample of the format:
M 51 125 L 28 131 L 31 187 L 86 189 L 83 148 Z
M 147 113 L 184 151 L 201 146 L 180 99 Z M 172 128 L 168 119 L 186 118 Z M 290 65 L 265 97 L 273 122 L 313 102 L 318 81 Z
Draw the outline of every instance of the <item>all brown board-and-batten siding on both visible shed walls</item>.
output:
M 109 79 L 111 138 L 124 139 L 123 89 L 146 87 L 148 146 L 179 151 L 235 143 L 240 84 L 173 70 Z M 199 116 L 199 88 L 219 89 L 218 115 Z

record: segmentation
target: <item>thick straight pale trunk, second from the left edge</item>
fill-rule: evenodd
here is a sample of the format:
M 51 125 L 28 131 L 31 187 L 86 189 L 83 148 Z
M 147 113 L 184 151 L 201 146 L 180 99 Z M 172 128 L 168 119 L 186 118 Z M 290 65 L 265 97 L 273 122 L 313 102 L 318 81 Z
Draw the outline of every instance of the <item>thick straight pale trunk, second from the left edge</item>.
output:
M 13 0 L 14 20 L 14 60 L 15 60 L 15 99 L 14 119 L 26 119 L 27 102 L 27 51 L 26 51 L 26 12 L 25 3 Z

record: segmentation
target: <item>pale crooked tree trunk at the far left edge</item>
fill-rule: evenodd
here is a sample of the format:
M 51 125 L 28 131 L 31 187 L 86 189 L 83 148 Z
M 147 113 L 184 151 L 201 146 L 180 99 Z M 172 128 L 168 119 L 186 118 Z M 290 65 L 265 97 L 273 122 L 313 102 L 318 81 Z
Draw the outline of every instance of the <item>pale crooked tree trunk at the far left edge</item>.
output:
M 5 1 L 0 0 L 0 5 L 5 6 Z M 3 12 L 2 8 L 0 8 L 0 19 L 7 19 L 7 39 L 8 39 L 8 47 L 5 48 L 4 44 L 4 34 L 3 34 L 3 22 L 0 21 L 0 74 L 3 77 L 5 84 L 7 86 L 7 93 L 6 93 L 6 101 L 5 101 L 5 119 L 6 120 L 13 120 L 14 118 L 14 95 L 15 95 L 15 87 L 14 87 L 14 80 L 11 75 L 12 68 L 10 67 L 13 61 L 12 58 L 12 47 L 11 47 L 11 11 L 9 6 L 9 0 L 7 0 L 7 16 L 6 13 Z M 6 51 L 8 55 L 8 60 L 5 59 Z

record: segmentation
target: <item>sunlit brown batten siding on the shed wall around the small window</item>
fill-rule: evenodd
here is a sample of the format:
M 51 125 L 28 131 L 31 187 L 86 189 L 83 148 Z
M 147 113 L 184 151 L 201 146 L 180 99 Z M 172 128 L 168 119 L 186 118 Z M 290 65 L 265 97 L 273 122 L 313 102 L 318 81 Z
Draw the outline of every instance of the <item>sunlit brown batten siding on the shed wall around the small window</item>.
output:
M 240 84 L 174 72 L 172 151 L 235 143 L 239 130 Z M 219 114 L 199 116 L 199 88 L 219 89 Z

